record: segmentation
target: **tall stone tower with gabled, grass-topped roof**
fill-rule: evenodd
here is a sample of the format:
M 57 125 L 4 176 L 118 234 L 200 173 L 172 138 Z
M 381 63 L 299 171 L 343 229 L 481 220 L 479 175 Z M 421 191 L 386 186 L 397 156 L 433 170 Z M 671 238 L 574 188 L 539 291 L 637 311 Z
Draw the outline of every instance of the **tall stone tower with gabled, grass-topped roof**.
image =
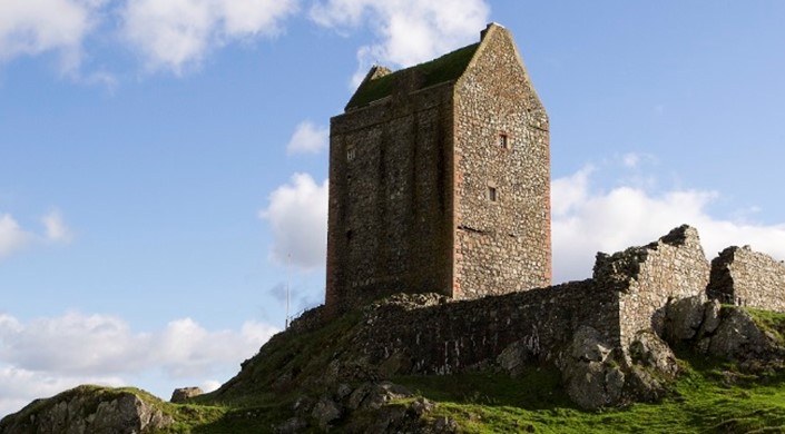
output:
M 551 282 L 548 115 L 510 32 L 369 71 L 331 119 L 327 309 Z

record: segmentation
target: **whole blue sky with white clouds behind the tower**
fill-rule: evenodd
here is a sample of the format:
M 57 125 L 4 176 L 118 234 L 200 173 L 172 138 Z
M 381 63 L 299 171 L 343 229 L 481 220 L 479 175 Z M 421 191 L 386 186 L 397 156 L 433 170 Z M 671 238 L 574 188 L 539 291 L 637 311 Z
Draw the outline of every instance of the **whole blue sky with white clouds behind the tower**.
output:
M 356 78 L 490 21 L 551 118 L 556 280 L 681 223 L 785 259 L 779 1 L 0 0 L 0 414 L 234 375 L 322 300 Z

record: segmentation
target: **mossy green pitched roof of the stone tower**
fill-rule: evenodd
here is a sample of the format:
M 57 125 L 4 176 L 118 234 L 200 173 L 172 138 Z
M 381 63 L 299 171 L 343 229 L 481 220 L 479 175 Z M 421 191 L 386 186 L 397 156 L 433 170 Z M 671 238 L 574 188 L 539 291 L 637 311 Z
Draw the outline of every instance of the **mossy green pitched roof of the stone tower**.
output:
M 365 80 L 354 92 L 352 99 L 349 100 L 346 110 L 389 97 L 392 95 L 398 77 L 412 69 L 418 70 L 423 76 L 420 89 L 455 80 L 467 69 L 478 47 L 480 47 L 479 42 L 472 43 L 425 63 L 402 69 L 373 80 Z

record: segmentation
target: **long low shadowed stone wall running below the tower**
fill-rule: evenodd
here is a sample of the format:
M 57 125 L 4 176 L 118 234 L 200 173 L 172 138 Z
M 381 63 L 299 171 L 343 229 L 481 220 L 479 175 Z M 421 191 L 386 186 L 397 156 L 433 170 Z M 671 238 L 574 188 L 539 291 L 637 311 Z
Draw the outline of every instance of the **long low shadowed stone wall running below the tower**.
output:
M 357 345 L 385 375 L 447 374 L 497 363 L 553 361 L 581 325 L 612 342 L 618 299 L 590 280 L 426 307 L 390 303 L 370 310 Z

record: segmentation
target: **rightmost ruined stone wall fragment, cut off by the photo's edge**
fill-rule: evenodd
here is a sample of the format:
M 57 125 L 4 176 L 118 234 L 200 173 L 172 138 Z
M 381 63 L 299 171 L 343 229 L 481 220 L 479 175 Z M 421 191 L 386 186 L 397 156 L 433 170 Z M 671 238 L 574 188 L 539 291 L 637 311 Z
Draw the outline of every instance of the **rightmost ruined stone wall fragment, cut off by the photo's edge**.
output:
M 747 246 L 728 247 L 712 260 L 706 292 L 720 303 L 785 312 L 785 264 Z

